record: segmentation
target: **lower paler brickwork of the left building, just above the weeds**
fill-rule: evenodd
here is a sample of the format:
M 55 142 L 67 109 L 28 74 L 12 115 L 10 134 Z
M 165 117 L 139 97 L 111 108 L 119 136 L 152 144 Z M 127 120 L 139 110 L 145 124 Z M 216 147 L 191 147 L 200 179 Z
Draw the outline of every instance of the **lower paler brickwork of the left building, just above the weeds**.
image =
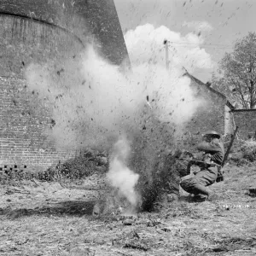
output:
M 74 150 L 56 150 L 44 135 L 51 124 L 50 109 L 24 79 L 0 77 L 0 168 L 37 171 L 73 158 Z

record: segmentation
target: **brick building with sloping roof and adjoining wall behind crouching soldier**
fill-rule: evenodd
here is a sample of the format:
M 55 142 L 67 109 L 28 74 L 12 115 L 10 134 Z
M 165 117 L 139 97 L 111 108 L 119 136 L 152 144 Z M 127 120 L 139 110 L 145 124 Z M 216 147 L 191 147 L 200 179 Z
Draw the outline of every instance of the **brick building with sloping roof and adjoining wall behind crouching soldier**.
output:
M 190 84 L 195 90 L 195 96 L 206 101 L 204 107 L 195 113 L 185 127 L 185 143 L 186 140 L 188 144 L 191 141 L 196 143 L 204 131 L 218 131 L 222 135 L 232 134 L 236 126 L 239 127 L 237 135 L 240 139 L 256 137 L 256 109 L 236 109 L 219 91 L 187 72 L 184 75 L 191 79 Z

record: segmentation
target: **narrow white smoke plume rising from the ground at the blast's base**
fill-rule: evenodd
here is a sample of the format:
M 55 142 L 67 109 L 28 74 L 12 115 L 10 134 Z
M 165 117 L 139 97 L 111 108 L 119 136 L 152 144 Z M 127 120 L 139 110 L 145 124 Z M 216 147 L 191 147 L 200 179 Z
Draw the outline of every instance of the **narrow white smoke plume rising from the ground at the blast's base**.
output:
M 131 208 L 126 210 L 132 211 L 139 202 L 139 195 L 135 191 L 139 175 L 127 167 L 126 161 L 130 153 L 131 148 L 127 139 L 120 137 L 113 146 L 107 177 L 110 185 L 114 189 L 118 189 L 119 195 L 129 201 Z

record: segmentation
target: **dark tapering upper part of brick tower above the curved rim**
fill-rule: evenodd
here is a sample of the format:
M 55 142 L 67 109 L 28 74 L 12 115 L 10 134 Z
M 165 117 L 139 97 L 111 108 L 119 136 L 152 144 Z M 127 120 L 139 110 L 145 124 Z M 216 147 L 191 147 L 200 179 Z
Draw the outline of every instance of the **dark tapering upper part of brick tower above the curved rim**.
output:
M 1 0 L 1 13 L 61 26 L 82 42 L 87 40 L 88 34 L 93 34 L 98 49 L 117 65 L 128 55 L 113 0 Z M 22 26 L 18 27 L 21 32 Z

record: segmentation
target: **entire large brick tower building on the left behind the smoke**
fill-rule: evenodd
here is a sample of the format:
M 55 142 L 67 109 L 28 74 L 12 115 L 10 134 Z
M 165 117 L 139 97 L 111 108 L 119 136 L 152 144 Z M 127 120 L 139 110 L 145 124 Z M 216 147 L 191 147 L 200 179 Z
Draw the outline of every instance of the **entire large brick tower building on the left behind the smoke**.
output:
M 24 70 L 31 62 L 47 61 L 61 69 L 91 38 L 113 64 L 127 58 L 113 1 L 1 1 L 0 171 L 45 169 L 76 154 L 56 150 L 44 136 L 54 121 L 44 102 L 27 90 Z

